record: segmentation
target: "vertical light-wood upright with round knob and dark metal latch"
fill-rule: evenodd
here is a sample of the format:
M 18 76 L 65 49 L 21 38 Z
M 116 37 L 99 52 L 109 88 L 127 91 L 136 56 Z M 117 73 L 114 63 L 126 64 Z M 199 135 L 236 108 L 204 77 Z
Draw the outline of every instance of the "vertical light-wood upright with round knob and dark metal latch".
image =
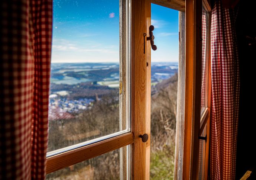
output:
M 144 33 L 148 32 L 151 17 L 150 0 L 132 1 L 132 179 L 146 180 L 149 178 L 150 160 L 150 42 L 145 41 Z M 147 33 L 147 36 L 149 34 Z M 149 89 L 148 89 L 149 88 Z M 149 103 L 149 105 L 147 105 Z M 148 134 L 147 142 L 142 142 L 139 135 Z

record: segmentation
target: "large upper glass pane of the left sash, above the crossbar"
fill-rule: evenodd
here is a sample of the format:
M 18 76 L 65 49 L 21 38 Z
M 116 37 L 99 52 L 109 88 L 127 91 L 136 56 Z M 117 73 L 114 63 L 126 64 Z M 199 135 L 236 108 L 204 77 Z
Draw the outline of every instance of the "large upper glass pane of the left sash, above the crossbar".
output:
M 48 152 L 129 131 L 128 2 L 53 1 Z

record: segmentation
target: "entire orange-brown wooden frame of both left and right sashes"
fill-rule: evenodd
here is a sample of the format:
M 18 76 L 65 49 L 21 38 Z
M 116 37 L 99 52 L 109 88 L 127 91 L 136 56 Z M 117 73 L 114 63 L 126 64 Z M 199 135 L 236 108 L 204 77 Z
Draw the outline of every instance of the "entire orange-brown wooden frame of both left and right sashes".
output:
M 154 3 L 156 2 L 155 4 L 159 4 L 157 3 L 157 0 L 152 1 L 154 1 Z M 207 0 L 205 1 L 209 5 L 209 2 Z M 183 179 L 197 179 L 197 150 L 199 149 L 198 136 L 201 132 L 201 128 L 203 128 L 205 124 L 207 124 L 208 127 L 210 126 L 211 86 L 208 84 L 208 108 L 206 109 L 207 112 L 205 112 L 205 115 L 203 116 L 202 124 L 200 124 L 202 42 L 200 42 L 201 29 L 197 22 L 200 22 L 202 16 L 202 0 L 186 0 L 185 4 L 185 7 L 183 4 L 179 6 L 179 8 L 181 8 L 182 11 L 185 10 L 186 13 L 185 121 L 182 176 Z M 58 155 L 50 156 L 47 158 L 46 162 L 47 174 L 104 153 L 108 153 L 112 150 L 131 145 L 131 179 L 149 179 L 151 45 L 149 41 L 146 41 L 144 53 L 143 34 L 145 32 L 147 36 L 149 34 L 148 29 L 149 25 L 151 25 L 151 1 L 132 0 L 131 6 L 131 132 L 83 146 L 81 148 L 69 150 Z M 208 65 L 210 67 L 210 63 L 208 63 Z M 210 68 L 208 77 L 208 82 L 210 83 Z M 146 143 L 143 143 L 141 138 L 139 138 L 139 135 L 145 133 L 148 134 L 149 139 Z M 207 133 L 209 134 L 209 128 L 207 129 Z M 208 157 L 209 149 L 209 141 L 207 142 L 206 157 Z M 208 169 L 208 160 L 205 169 Z M 207 172 L 207 170 L 205 172 Z

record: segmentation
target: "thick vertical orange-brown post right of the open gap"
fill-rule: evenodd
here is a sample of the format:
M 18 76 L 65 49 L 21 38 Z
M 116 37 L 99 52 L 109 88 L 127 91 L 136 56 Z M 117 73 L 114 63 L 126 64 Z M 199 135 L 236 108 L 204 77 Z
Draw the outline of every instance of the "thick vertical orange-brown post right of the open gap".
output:
M 198 179 L 202 79 L 202 0 L 186 1 L 186 80 L 183 179 Z

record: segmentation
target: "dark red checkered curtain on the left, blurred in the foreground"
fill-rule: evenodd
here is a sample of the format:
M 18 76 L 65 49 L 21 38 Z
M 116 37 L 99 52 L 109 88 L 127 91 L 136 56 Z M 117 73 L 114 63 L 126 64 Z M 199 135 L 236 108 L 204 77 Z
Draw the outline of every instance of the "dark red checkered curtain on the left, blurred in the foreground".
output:
M 0 179 L 45 179 L 51 0 L 0 2 Z

